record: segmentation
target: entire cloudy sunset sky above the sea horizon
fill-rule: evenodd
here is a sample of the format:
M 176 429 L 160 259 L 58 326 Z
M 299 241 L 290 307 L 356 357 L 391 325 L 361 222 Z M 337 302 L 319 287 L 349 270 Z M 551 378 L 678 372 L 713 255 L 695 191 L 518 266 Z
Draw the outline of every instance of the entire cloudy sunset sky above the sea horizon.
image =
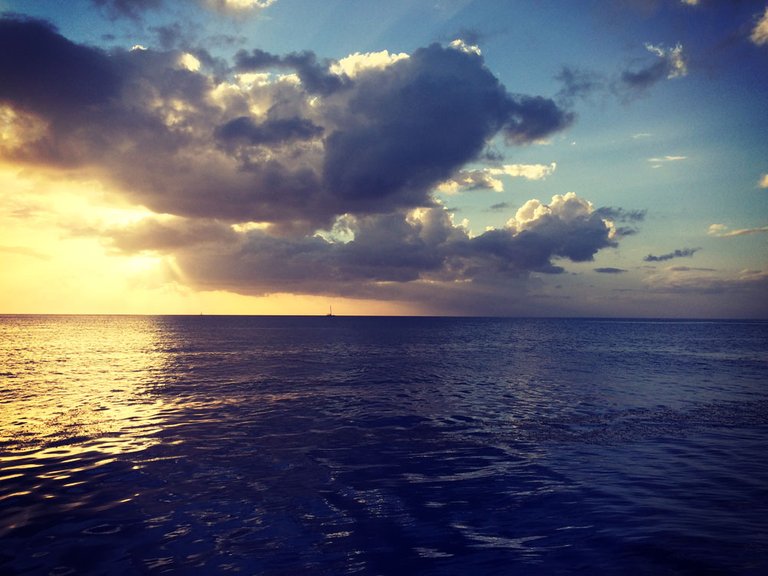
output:
M 0 15 L 0 313 L 768 318 L 768 0 Z

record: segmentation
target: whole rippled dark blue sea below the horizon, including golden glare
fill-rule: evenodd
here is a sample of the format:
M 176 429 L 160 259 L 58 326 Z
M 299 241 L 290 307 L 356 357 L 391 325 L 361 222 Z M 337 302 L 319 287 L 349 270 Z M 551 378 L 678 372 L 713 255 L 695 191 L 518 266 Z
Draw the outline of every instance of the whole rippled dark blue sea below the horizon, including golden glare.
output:
M 0 317 L 0 574 L 768 573 L 768 323 Z

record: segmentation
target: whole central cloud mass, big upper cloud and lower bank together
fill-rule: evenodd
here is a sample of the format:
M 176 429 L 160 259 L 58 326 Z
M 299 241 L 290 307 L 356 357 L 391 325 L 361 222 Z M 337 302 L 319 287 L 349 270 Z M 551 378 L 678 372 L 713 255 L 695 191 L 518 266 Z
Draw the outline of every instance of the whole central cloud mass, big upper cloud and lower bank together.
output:
M 530 200 L 478 236 L 455 223 L 435 187 L 456 175 L 545 178 L 554 163 L 465 166 L 487 160 L 497 136 L 532 144 L 573 121 L 553 100 L 509 92 L 462 47 L 338 62 L 250 50 L 227 68 L 191 46 L 105 52 L 5 18 L 0 113 L 6 159 L 98 180 L 156 214 L 73 233 L 167 255 L 200 289 L 432 290 L 445 301 L 524 291 L 537 273 L 616 246 L 615 220 L 641 219 L 568 193 Z

